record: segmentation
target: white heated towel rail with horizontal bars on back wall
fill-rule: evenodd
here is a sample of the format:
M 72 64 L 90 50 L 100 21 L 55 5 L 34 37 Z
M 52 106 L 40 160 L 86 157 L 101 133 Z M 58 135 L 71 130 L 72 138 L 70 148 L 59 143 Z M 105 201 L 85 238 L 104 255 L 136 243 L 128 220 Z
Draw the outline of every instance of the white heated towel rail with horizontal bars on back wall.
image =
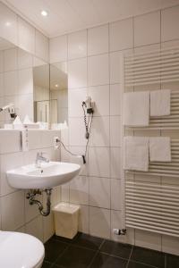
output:
M 179 47 L 124 54 L 121 64 L 124 92 L 172 86 L 170 115 L 151 117 L 148 127 L 124 127 L 123 136 L 138 135 L 135 130 L 146 130 L 142 135 L 147 137 L 147 130 L 159 130 L 155 132 L 158 136 L 167 136 L 163 130 L 175 133 L 170 163 L 149 163 L 148 172 L 123 172 L 124 227 L 179 237 Z M 146 175 L 153 176 L 152 180 Z

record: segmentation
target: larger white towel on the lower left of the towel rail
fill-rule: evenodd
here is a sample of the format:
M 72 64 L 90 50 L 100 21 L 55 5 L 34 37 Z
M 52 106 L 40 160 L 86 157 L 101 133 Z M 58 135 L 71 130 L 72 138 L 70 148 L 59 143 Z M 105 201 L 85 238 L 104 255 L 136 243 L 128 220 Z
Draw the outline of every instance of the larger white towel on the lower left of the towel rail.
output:
M 124 170 L 148 172 L 149 138 L 124 137 Z

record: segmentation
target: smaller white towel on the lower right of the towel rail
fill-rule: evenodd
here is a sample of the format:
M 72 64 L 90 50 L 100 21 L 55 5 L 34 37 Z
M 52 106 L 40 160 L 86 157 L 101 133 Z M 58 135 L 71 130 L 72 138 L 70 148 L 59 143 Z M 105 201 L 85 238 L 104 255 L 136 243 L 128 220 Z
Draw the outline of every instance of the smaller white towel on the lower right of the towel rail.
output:
M 151 162 L 171 162 L 169 137 L 149 138 L 149 160 Z

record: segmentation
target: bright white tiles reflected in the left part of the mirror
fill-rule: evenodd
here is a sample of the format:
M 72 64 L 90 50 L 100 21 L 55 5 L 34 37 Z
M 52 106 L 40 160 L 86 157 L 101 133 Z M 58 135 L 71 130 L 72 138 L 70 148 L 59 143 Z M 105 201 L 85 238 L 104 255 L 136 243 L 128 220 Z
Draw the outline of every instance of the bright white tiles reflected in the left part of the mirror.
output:
M 15 113 L 33 120 L 33 56 L 0 38 L 0 125 L 12 123 Z M 14 115 L 14 116 L 13 116 Z

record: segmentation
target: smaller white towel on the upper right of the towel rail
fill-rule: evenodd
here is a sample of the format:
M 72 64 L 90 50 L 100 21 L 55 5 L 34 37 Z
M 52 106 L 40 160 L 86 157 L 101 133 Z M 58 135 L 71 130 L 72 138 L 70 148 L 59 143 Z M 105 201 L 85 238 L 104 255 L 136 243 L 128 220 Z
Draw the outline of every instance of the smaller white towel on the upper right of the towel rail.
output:
M 170 90 L 155 90 L 150 92 L 150 116 L 170 114 Z

